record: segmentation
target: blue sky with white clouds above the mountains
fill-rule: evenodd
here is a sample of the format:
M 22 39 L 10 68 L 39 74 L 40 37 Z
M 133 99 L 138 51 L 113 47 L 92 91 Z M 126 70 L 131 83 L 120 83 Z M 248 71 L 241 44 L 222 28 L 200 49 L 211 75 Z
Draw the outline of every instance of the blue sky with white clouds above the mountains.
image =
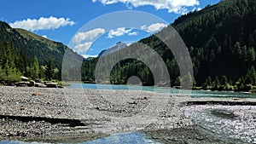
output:
M 0 20 L 95 57 L 170 25 L 219 0 L 1 0 Z

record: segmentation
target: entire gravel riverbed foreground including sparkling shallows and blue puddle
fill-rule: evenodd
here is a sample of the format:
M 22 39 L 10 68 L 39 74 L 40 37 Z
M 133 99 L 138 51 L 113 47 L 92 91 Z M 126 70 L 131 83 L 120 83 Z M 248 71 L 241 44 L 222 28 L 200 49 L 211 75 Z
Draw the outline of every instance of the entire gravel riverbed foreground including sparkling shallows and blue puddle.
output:
M 187 106 L 197 98 L 135 89 L 0 89 L 0 143 L 256 142 L 253 106 Z

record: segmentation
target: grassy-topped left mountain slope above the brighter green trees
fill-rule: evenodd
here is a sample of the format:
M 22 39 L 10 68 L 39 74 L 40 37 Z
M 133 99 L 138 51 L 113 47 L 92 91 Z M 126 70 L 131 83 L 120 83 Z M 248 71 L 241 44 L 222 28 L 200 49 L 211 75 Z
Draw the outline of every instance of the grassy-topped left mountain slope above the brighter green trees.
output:
M 50 58 L 56 67 L 61 67 L 65 50 L 69 49 L 63 43 L 51 41 L 23 29 L 11 28 L 2 21 L 0 21 L 0 27 L 0 41 L 2 43 L 11 43 L 19 52 L 24 52 L 28 57 L 37 57 L 41 65 L 45 65 Z M 74 53 L 71 49 L 69 51 Z M 77 56 L 81 57 L 80 55 Z

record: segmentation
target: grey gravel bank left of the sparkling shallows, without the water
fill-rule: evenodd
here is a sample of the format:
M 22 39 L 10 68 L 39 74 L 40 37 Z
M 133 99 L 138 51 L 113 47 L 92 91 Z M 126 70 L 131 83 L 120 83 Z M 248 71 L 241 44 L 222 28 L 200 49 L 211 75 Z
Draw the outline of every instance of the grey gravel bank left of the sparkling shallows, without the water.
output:
M 130 131 L 183 131 L 195 125 L 183 107 L 205 99 L 133 90 L 0 89 L 0 140 L 18 141 L 81 142 Z

